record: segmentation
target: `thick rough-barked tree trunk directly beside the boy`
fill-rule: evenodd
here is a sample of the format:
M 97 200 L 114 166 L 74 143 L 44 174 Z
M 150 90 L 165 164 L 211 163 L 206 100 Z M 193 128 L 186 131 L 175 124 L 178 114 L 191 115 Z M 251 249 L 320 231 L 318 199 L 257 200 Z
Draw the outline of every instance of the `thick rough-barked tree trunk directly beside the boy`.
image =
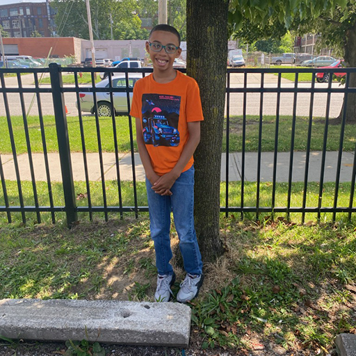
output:
M 204 113 L 195 157 L 195 228 L 204 262 L 224 252 L 220 239 L 220 165 L 227 60 L 227 0 L 187 0 L 187 74 Z

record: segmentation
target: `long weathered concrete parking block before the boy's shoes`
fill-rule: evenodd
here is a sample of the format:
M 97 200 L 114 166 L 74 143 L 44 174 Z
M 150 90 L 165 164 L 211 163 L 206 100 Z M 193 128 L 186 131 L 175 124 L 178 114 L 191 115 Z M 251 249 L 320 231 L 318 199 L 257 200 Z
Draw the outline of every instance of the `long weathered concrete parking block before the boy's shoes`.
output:
M 0 300 L 0 334 L 10 339 L 186 347 L 191 308 L 115 300 Z

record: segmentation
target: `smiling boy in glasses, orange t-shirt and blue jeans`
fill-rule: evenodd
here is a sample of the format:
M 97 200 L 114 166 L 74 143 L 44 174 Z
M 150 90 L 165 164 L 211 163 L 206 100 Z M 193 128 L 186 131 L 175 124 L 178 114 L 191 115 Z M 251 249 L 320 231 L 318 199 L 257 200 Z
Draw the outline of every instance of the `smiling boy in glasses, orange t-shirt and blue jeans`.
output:
M 196 81 L 173 69 L 181 54 L 178 31 L 166 24 L 149 33 L 146 50 L 153 73 L 133 88 L 130 115 L 136 118 L 136 138 L 145 168 L 151 237 L 158 270 L 154 298 L 168 302 L 175 273 L 170 259 L 170 211 L 173 211 L 186 278 L 178 302 L 195 298 L 203 282 L 202 256 L 195 235 L 193 153 L 200 142 L 203 120 Z

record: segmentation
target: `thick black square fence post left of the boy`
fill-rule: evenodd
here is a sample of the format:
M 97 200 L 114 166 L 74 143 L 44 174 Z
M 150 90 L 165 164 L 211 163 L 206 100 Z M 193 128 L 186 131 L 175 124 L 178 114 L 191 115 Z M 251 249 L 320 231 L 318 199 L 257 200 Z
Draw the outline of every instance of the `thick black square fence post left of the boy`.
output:
M 60 65 L 57 63 L 51 63 L 49 65 L 49 74 L 51 75 L 54 118 L 56 120 L 60 170 L 62 172 L 65 199 L 65 213 L 67 214 L 67 225 L 68 227 L 72 227 L 78 219 L 76 213 L 72 161 L 70 159 L 70 141 L 68 138 L 67 115 L 65 114 L 63 81 L 62 73 L 60 72 Z

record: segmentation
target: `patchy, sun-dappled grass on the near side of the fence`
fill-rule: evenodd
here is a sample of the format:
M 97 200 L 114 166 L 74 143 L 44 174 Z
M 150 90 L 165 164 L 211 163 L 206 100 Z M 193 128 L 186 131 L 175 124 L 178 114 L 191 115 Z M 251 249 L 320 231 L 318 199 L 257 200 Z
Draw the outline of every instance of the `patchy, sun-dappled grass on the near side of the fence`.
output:
M 205 264 L 191 303 L 191 347 L 250 352 L 256 345 L 326 355 L 355 332 L 355 225 L 221 219 L 227 252 Z M 172 245 L 178 240 L 172 233 Z M 177 273 L 174 293 L 184 271 Z M 0 225 L 0 298 L 153 301 L 154 248 L 138 220 Z

